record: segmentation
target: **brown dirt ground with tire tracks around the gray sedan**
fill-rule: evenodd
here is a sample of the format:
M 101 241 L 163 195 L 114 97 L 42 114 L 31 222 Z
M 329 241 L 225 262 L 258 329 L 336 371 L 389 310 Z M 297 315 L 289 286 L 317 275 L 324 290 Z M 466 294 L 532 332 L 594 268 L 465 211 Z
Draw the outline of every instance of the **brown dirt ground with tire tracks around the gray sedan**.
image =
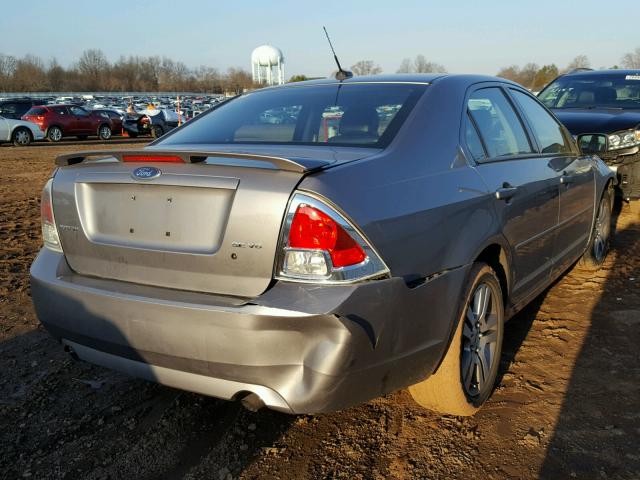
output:
M 404 391 L 334 414 L 251 413 L 74 362 L 38 324 L 28 269 L 53 158 L 127 146 L 0 147 L 1 478 L 640 478 L 640 218 L 626 208 L 605 268 L 574 268 L 507 324 L 475 417 Z

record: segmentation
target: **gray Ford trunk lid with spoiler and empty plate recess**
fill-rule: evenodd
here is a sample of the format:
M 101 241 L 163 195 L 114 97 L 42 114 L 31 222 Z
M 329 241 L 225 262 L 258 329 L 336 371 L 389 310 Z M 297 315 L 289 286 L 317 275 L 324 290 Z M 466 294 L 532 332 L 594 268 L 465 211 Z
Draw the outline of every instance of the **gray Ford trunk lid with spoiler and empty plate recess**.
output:
M 255 297 L 272 280 L 291 192 L 331 162 L 145 149 L 64 155 L 56 163 L 64 168 L 53 182 L 54 215 L 73 270 Z

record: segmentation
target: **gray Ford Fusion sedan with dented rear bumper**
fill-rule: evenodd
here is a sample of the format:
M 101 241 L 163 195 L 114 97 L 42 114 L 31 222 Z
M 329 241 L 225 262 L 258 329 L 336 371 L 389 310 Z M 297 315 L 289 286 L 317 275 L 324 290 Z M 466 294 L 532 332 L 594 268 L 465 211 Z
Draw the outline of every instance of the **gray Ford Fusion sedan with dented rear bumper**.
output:
M 576 145 L 493 77 L 249 92 L 142 150 L 58 157 L 33 301 L 76 358 L 249 408 L 409 387 L 470 415 L 505 320 L 607 253 L 613 173 Z

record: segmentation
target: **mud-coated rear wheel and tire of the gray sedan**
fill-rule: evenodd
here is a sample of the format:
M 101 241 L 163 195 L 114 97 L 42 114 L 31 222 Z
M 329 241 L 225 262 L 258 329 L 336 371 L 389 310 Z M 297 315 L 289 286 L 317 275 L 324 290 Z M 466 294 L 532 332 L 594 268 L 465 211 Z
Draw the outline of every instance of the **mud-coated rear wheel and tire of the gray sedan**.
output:
M 409 387 L 409 393 L 430 410 L 470 416 L 493 392 L 502 353 L 502 289 L 489 265 L 473 265 L 462 299 L 457 327 L 440 367 Z

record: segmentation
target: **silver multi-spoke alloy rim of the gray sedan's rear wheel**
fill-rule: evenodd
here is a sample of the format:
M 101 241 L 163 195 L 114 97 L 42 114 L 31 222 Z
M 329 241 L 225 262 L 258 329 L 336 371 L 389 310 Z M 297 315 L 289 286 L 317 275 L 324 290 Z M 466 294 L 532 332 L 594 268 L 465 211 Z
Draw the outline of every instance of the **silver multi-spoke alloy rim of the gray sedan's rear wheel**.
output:
M 480 283 L 467 305 L 462 329 L 460 362 L 465 393 L 476 397 L 491 388 L 494 364 L 498 359 L 498 309 L 496 295 L 487 283 Z

